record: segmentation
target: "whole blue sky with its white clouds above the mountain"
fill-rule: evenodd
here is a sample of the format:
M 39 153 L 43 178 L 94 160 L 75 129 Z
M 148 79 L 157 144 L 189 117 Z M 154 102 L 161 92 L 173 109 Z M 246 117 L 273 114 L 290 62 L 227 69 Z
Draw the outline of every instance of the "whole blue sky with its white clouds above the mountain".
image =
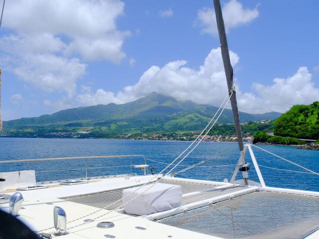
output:
M 319 100 L 318 1 L 221 2 L 239 110 Z M 219 106 L 227 90 L 212 8 L 212 0 L 7 1 L 2 119 L 154 91 Z

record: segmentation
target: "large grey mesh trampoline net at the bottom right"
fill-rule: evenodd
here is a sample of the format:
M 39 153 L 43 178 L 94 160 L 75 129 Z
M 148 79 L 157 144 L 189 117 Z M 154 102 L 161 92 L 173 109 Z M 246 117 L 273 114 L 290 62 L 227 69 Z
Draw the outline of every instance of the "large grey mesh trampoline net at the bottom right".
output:
M 319 230 L 319 198 L 254 192 L 158 222 L 225 239 L 303 239 Z

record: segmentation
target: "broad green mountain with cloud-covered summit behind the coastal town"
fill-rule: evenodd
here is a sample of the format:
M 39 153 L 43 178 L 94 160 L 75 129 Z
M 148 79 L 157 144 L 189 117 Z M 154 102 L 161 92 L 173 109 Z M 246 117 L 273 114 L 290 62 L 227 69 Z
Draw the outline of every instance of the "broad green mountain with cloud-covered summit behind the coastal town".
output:
M 104 134 L 131 132 L 171 132 L 200 130 L 218 108 L 180 102 L 172 97 L 152 93 L 136 101 L 116 105 L 97 105 L 59 111 L 52 115 L 21 118 L 3 122 L 4 132 L 87 130 Z M 276 119 L 281 113 L 248 114 L 240 112 L 242 122 Z M 231 110 L 225 109 L 218 123 L 233 123 Z

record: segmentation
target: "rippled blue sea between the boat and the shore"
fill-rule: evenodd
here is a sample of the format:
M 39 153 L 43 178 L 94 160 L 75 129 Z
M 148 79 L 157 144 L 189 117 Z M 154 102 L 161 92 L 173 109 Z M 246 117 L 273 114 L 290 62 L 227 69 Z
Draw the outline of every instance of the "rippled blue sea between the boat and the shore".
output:
M 119 139 L 59 139 L 59 138 L 0 138 L 0 161 L 17 159 L 36 159 L 52 157 L 75 157 L 97 155 L 144 155 L 155 172 L 160 172 L 166 164 L 175 159 L 191 142 L 157 140 L 119 140 Z M 319 172 L 319 151 L 297 149 L 295 146 L 259 145 L 295 163 Z M 257 148 L 253 148 L 267 186 L 285 187 L 319 191 L 319 176 L 276 158 Z M 223 181 L 230 180 L 234 164 L 239 158 L 237 142 L 202 142 L 176 167 L 178 172 L 202 160 L 200 167 L 179 172 L 176 177 Z M 141 156 L 88 159 L 88 177 L 131 173 L 132 164 L 144 164 Z M 158 162 L 154 162 L 154 161 Z M 246 160 L 251 162 L 249 153 Z M 36 180 L 48 181 L 85 177 L 85 159 L 32 162 L 31 169 L 36 171 Z M 224 166 L 222 166 L 224 165 Z M 265 166 L 265 167 L 262 167 Z M 282 171 L 277 169 L 291 170 Z M 28 170 L 29 163 L 1 163 L 0 171 Z M 132 173 L 142 174 L 139 168 Z M 249 178 L 258 181 L 252 167 Z

